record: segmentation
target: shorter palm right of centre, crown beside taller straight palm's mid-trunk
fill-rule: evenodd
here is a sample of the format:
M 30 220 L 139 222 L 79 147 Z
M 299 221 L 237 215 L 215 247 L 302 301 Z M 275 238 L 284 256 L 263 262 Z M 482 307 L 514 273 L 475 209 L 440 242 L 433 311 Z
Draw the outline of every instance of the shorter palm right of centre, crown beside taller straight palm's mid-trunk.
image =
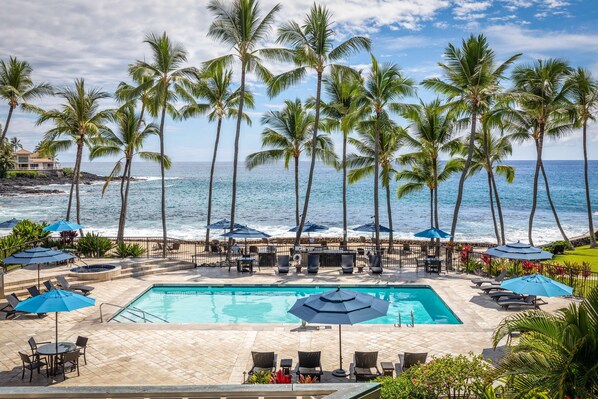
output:
M 388 212 L 388 227 L 390 228 L 388 252 L 392 253 L 393 223 L 390 181 L 397 174 L 393 162 L 403 143 L 405 131 L 403 128 L 396 126 L 387 113 L 382 113 L 379 117 L 372 116 L 369 120 L 362 121 L 358 129 L 358 135 L 358 139 L 349 138 L 349 142 L 358 153 L 349 154 L 347 157 L 347 165 L 352 168 L 347 177 L 349 183 L 353 184 L 366 176 L 375 175 L 376 166 L 380 165 L 379 178 L 382 187 L 386 191 L 386 210 Z M 379 230 L 378 225 L 376 229 Z

